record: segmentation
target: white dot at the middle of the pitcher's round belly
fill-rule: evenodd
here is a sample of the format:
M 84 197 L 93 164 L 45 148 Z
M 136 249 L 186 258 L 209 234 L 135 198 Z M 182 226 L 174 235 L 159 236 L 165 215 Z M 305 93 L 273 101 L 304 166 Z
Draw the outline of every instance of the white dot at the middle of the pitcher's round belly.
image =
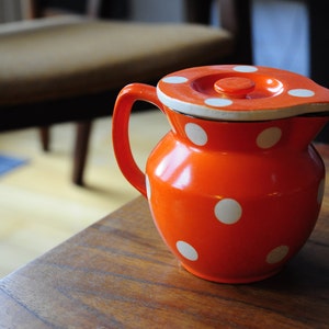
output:
M 242 215 L 242 207 L 234 198 L 223 198 L 215 206 L 216 218 L 224 224 L 235 224 Z

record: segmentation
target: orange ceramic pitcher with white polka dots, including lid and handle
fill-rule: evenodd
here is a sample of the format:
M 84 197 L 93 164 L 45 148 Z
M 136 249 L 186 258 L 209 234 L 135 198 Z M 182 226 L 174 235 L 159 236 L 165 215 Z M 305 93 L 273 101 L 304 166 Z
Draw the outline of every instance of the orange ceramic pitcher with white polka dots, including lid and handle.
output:
M 137 100 L 157 105 L 171 125 L 145 173 L 128 140 Z M 122 90 L 113 116 L 117 162 L 188 271 L 258 281 L 303 247 L 321 206 L 325 167 L 310 143 L 328 102 L 329 91 L 311 80 L 256 66 L 191 68 L 157 88 Z

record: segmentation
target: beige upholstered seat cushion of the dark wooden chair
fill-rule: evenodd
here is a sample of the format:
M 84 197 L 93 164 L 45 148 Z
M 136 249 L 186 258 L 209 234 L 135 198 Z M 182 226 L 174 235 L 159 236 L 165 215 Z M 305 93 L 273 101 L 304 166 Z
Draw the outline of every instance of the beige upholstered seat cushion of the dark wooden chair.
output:
M 4 25 L 3 25 L 4 26 Z M 0 27 L 0 104 L 79 95 L 218 64 L 226 31 L 201 25 L 43 19 Z

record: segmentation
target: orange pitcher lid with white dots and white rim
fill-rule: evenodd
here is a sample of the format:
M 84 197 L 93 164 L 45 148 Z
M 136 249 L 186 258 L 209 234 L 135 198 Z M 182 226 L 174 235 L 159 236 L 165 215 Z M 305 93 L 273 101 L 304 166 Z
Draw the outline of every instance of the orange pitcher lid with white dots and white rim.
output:
M 262 121 L 329 112 L 329 90 L 290 71 L 246 65 L 194 67 L 157 87 L 168 107 L 197 117 Z

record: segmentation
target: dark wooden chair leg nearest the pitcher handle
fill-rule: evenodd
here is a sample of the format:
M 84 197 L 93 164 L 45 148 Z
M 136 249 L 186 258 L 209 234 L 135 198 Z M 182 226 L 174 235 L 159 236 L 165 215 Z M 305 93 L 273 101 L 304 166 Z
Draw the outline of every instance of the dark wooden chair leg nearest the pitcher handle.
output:
M 72 181 L 75 184 L 81 186 L 83 185 L 83 171 L 86 167 L 91 125 L 91 121 L 77 123 L 77 139 L 73 152 Z

